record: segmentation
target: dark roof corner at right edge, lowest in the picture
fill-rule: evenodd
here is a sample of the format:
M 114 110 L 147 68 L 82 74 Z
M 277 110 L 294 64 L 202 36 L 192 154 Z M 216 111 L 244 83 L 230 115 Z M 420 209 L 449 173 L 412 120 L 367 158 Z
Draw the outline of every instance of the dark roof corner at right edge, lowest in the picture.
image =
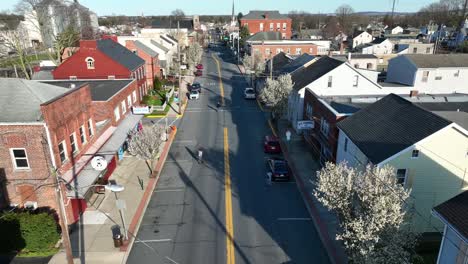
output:
M 468 239 L 468 191 L 439 204 L 433 210 L 456 229 L 465 241 Z

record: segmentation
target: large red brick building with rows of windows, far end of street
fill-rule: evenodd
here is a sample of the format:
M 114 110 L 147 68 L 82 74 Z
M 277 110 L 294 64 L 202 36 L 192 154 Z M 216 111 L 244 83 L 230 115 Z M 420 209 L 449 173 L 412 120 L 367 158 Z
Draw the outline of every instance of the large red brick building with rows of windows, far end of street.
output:
M 258 32 L 280 32 L 283 39 L 291 39 L 292 19 L 278 11 L 250 11 L 240 19 L 241 27 L 246 26 L 251 35 Z

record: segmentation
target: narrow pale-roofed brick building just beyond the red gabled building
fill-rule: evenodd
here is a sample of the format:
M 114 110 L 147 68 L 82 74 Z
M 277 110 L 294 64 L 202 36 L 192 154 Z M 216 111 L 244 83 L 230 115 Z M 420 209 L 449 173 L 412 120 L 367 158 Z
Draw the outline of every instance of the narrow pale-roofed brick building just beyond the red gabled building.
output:
M 159 54 L 139 40 L 127 40 L 125 47 L 145 60 L 146 84 L 148 87 L 153 87 L 154 78 L 163 76 Z

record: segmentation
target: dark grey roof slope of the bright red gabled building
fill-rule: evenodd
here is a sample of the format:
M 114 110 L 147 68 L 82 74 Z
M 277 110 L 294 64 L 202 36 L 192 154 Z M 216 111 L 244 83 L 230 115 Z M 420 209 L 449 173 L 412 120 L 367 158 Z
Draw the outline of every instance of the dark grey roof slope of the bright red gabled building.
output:
M 130 71 L 135 70 L 141 65 L 145 64 L 145 61 L 138 57 L 135 53 L 131 52 L 119 43 L 110 39 L 100 39 L 96 41 L 97 48 L 109 56 L 114 61 L 120 63 Z

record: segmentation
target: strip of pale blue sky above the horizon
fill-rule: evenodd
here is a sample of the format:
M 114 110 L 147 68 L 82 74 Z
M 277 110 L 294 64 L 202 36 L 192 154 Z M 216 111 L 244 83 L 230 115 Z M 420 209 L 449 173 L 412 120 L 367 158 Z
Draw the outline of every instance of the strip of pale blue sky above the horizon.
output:
M 396 0 L 397 12 L 415 12 L 438 0 Z M 14 10 L 18 0 L 0 0 L 0 10 Z M 96 12 L 106 15 L 168 15 L 182 9 L 187 15 L 231 14 L 232 0 L 79 0 Z M 249 10 L 292 10 L 310 13 L 333 13 L 342 4 L 351 5 L 355 11 L 390 11 L 393 0 L 234 0 L 235 13 L 247 14 Z

